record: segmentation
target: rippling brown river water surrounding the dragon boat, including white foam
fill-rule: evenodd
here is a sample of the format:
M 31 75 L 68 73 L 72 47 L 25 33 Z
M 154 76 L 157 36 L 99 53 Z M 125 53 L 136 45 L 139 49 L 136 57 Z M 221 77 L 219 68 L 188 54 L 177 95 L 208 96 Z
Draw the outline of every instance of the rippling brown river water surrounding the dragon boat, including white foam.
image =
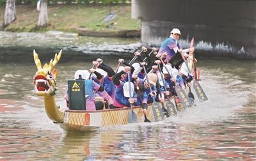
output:
M 254 60 L 200 54 L 200 84 L 209 100 L 196 99 L 195 106 L 179 112 L 177 117 L 90 133 L 66 132 L 47 118 L 43 99 L 34 94 L 35 47 L 3 44 L 0 160 L 256 160 Z M 131 59 L 127 46 L 112 47 L 115 52 L 101 50 L 97 53 L 100 56 L 86 53 L 84 48 L 63 50 L 56 66 L 56 102 L 61 108 L 65 108 L 62 97 L 67 81 L 73 79 L 76 70 L 90 68 L 97 57 L 113 68 L 118 58 Z M 38 47 L 37 52 L 44 64 L 58 50 Z

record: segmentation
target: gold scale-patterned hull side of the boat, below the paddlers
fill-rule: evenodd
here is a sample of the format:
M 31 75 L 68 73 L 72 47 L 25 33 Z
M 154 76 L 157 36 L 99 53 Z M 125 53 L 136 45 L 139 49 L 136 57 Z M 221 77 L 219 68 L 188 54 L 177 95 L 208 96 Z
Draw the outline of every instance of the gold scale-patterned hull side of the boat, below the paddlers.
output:
M 137 116 L 138 123 L 144 122 L 143 109 L 134 107 L 132 110 Z M 67 131 L 93 131 L 100 127 L 127 125 L 130 111 L 130 107 L 99 111 L 67 110 L 61 128 Z M 148 105 L 147 118 L 152 122 L 155 120 L 151 104 Z

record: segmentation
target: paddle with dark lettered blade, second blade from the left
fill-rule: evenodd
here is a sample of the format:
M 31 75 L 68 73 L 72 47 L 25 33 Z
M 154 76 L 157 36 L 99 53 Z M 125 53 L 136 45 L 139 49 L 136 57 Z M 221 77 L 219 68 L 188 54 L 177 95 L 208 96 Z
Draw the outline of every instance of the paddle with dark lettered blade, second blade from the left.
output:
M 151 89 L 148 75 L 147 75 L 147 70 L 144 65 L 143 65 L 143 70 L 144 70 L 146 78 L 147 78 L 147 83 L 148 83 L 148 86 L 150 89 L 150 93 L 152 93 L 152 89 Z M 161 107 L 159 106 L 159 104 L 156 102 L 156 99 L 155 99 L 156 96 L 153 96 L 152 98 L 153 98 L 152 111 L 153 111 L 154 119 L 155 119 L 155 121 L 161 121 L 164 119 L 163 111 L 162 111 Z

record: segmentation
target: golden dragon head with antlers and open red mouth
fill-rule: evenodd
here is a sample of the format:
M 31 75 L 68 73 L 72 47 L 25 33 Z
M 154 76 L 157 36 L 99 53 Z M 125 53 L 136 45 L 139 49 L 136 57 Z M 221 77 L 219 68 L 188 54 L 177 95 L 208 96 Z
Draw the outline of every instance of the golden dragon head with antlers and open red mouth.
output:
M 56 77 L 58 70 L 54 69 L 54 66 L 58 63 L 61 57 L 60 50 L 59 54 L 55 54 L 54 60 L 50 61 L 49 65 L 45 63 L 42 68 L 41 61 L 38 54 L 33 51 L 34 61 L 37 67 L 37 72 L 34 76 L 35 93 L 38 96 L 54 95 L 56 91 Z

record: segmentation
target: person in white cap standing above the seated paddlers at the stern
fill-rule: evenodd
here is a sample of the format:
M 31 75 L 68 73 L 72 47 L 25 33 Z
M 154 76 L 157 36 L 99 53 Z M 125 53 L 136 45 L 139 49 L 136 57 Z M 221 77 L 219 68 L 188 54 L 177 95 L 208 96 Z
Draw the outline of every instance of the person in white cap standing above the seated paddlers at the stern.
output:
M 178 42 L 180 38 L 180 31 L 177 28 L 173 28 L 170 34 L 170 37 L 164 40 L 164 42 L 161 44 L 161 47 L 157 53 L 157 57 L 162 56 L 164 52 L 166 52 L 168 55 L 166 57 L 166 63 L 169 63 L 175 54 L 179 53 L 182 54 L 183 57 L 189 57 L 186 52 L 194 52 L 194 47 L 191 47 L 190 49 L 182 50 L 180 47 L 180 44 Z

